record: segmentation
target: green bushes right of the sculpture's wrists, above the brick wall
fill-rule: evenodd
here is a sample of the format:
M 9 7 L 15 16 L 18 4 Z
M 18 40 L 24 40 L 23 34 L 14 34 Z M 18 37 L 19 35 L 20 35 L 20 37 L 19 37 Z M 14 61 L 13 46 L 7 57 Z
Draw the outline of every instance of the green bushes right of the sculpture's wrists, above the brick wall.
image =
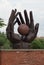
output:
M 44 49 L 44 39 L 35 39 L 31 45 L 32 49 Z

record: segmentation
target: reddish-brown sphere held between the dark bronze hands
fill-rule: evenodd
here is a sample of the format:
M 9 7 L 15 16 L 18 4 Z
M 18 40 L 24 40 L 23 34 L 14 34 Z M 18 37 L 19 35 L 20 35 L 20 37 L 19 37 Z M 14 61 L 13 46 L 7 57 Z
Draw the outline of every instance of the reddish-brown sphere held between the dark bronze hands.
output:
M 26 24 L 21 24 L 18 27 L 18 32 L 21 35 L 27 35 L 29 33 L 29 27 Z

